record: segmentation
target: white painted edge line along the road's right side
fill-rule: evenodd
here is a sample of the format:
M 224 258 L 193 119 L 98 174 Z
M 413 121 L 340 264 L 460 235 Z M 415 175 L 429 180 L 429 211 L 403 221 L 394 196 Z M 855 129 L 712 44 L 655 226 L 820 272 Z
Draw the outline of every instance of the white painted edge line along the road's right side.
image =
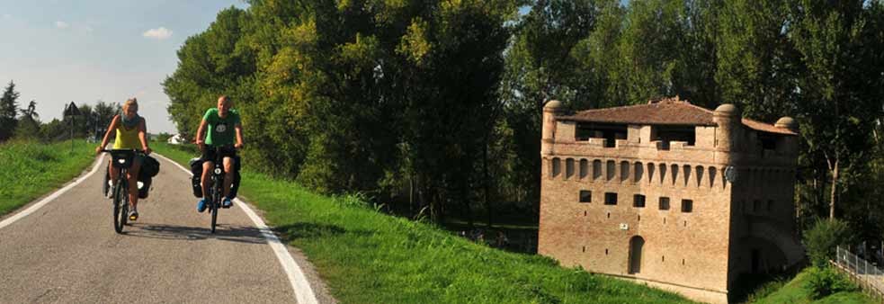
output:
M 169 159 L 165 156 L 161 156 L 158 153 L 153 153 L 154 156 L 159 156 L 169 163 L 172 163 L 179 168 L 181 168 L 188 175 L 193 175 L 191 170 L 188 170 L 183 165 L 180 165 L 174 162 L 172 159 Z M 94 171 L 94 170 L 93 170 Z M 263 219 L 258 217 L 254 211 L 248 207 L 248 205 L 239 201 L 239 199 L 234 200 L 237 202 L 237 206 L 240 209 L 246 212 L 249 219 L 252 219 L 254 222 L 254 226 L 261 230 L 261 234 L 264 238 L 267 239 L 267 245 L 270 245 L 273 249 L 273 253 L 276 254 L 276 258 L 280 260 L 280 264 L 282 265 L 282 269 L 285 270 L 286 275 L 289 277 L 289 282 L 291 283 L 291 290 L 295 292 L 295 300 L 301 304 L 316 304 L 319 301 L 317 300 L 316 294 L 313 293 L 313 288 L 310 287 L 310 284 L 307 282 L 307 277 L 304 276 L 304 272 L 301 271 L 300 266 L 295 263 L 295 259 L 291 258 L 289 255 L 289 250 L 285 245 L 282 244 L 279 237 L 273 234 L 270 228 L 264 224 Z M 2 228 L 3 226 L 0 226 Z

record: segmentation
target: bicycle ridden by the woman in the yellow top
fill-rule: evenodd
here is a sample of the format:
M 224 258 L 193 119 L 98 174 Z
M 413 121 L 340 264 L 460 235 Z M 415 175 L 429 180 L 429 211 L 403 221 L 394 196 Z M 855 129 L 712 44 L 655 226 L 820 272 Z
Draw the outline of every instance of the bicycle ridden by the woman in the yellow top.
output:
M 123 226 L 129 220 L 129 166 L 132 164 L 136 153 L 144 153 L 140 149 L 102 149 L 102 152 L 110 153 L 113 168 L 118 170 L 116 183 L 112 186 L 113 195 L 113 229 L 117 233 L 123 232 Z M 109 168 L 106 170 L 110 170 Z M 107 193 L 107 174 L 103 189 Z

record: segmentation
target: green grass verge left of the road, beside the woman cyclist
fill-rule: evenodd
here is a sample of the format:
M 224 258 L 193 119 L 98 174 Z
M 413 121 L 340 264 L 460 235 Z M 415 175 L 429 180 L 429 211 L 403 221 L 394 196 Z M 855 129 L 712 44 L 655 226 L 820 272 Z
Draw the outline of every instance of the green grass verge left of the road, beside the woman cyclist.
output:
M 22 207 L 69 182 L 94 160 L 94 145 L 76 140 L 42 144 L 12 141 L 0 144 L 0 216 Z

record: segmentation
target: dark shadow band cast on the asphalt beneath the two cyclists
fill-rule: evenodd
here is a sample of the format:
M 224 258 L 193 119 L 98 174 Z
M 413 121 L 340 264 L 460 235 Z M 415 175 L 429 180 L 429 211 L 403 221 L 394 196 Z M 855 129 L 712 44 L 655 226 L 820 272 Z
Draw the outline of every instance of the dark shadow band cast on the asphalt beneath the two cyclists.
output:
M 165 224 L 142 224 L 135 223 L 123 230 L 123 235 L 129 237 L 147 237 L 157 239 L 199 241 L 204 239 L 219 239 L 229 242 L 266 244 L 267 240 L 261 235 L 261 230 L 254 227 L 234 226 L 219 224 L 215 233 L 212 234 L 206 227 L 186 227 Z

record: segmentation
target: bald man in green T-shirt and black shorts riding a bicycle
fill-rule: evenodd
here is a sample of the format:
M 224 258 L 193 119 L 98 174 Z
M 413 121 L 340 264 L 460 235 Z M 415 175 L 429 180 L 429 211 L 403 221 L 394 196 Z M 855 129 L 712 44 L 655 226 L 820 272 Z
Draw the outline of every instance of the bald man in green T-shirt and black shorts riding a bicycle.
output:
M 202 151 L 202 199 L 197 201 L 196 210 L 206 210 L 209 197 L 209 179 L 212 169 L 215 167 L 216 147 L 233 145 L 234 148 L 243 148 L 243 126 L 240 123 L 239 112 L 231 109 L 233 102 L 228 96 L 218 97 L 218 107 L 211 108 L 202 116 L 200 129 L 196 133 L 196 144 Z M 203 140 L 204 139 L 204 140 Z M 236 144 L 234 144 L 236 140 Z M 230 195 L 230 184 L 233 183 L 233 168 L 235 151 L 221 151 L 224 157 L 224 200 L 221 207 L 230 208 L 233 205 Z

